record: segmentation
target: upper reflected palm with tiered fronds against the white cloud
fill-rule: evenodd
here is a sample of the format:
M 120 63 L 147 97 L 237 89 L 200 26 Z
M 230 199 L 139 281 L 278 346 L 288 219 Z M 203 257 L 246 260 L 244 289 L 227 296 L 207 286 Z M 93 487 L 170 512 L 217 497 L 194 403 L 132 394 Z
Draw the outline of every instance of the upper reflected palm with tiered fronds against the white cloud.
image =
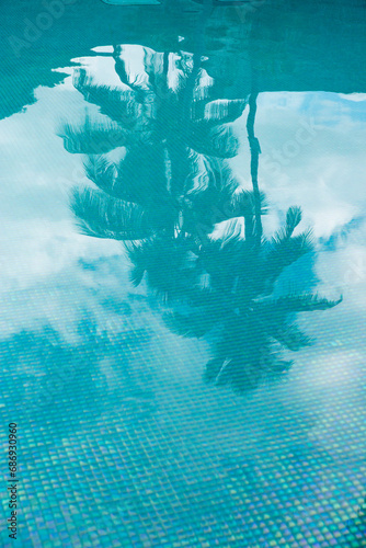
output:
M 245 101 L 210 101 L 211 81 L 201 57 L 148 48 L 139 53 L 144 71 L 136 76 L 128 69 L 128 48 L 114 47 L 125 89 L 111 89 L 110 96 L 83 69 L 73 80 L 110 116 L 103 125 L 87 117 L 82 127 L 64 128 L 66 149 L 89 155 L 87 174 L 102 191 L 76 190 L 73 209 L 85 233 L 103 238 L 136 240 L 157 231 L 173 236 L 193 224 L 211 231 L 208 213 L 227 203 L 238 186 L 227 176 L 225 159 L 237 153 L 230 123 Z M 125 155 L 112 162 L 105 152 L 121 146 Z M 224 218 L 236 213 L 228 204 Z

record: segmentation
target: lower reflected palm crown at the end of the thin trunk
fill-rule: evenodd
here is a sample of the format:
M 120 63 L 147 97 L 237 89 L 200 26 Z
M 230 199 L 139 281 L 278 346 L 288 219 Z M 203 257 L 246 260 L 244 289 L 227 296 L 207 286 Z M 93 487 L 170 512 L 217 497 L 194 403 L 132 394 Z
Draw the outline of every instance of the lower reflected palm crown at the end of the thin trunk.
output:
M 205 286 L 190 292 L 187 313 L 173 311 L 167 322 L 184 336 L 214 333 L 206 380 L 243 392 L 283 373 L 290 362 L 281 358 L 281 349 L 297 351 L 310 343 L 296 326 L 295 313 L 339 302 L 312 294 L 273 295 L 284 270 L 312 249 L 309 232 L 293 236 L 300 219 L 300 209 L 290 208 L 284 229 L 268 241 L 262 239 L 259 248 L 242 238 L 237 222 L 202 246 L 197 261 L 206 274 Z

